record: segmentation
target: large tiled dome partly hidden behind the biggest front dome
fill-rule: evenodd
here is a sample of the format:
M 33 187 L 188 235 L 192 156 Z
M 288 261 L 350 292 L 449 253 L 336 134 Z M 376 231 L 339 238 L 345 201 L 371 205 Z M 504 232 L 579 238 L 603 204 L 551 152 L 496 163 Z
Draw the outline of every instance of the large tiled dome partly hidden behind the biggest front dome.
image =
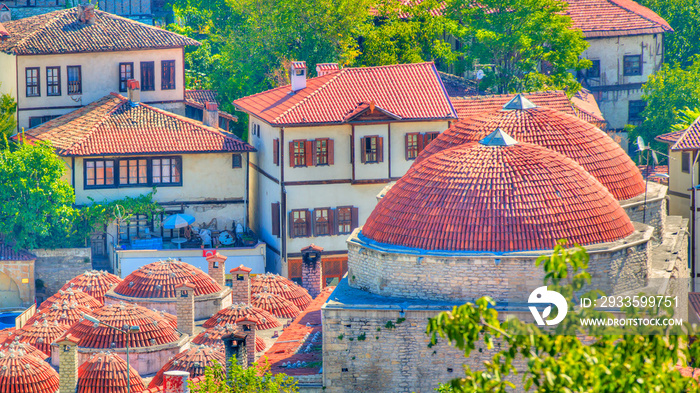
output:
M 455 123 L 423 149 L 416 163 L 441 150 L 480 141 L 500 128 L 520 142 L 552 149 L 576 161 L 618 200 L 644 193 L 639 169 L 607 134 L 575 116 L 528 105 L 526 98 L 521 99 L 525 105 L 514 107 L 524 109 L 482 113 Z

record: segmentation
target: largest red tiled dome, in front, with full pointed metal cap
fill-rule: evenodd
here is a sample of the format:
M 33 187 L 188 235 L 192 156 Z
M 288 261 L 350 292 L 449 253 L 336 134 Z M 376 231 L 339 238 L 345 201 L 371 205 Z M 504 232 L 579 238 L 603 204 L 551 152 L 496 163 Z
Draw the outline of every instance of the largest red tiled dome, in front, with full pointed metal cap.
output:
M 413 165 L 361 235 L 449 251 L 552 249 L 558 239 L 604 243 L 634 231 L 617 200 L 579 164 L 500 130 Z

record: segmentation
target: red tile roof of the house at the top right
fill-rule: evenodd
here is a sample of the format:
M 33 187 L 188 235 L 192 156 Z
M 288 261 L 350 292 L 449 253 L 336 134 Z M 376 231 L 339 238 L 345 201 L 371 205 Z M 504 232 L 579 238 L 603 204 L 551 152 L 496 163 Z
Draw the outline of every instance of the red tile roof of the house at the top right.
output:
M 673 31 L 654 11 L 632 0 L 565 0 L 566 14 L 586 38 Z

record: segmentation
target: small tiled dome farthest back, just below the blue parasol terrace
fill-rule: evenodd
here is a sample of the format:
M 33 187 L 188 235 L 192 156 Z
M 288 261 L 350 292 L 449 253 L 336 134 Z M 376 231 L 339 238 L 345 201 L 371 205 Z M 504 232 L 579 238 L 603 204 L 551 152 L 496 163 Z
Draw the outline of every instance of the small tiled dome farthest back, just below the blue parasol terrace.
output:
M 135 270 L 114 288 L 114 292 L 138 298 L 174 298 L 175 287 L 187 282 L 195 286 L 195 296 L 223 290 L 221 285 L 196 267 L 168 259 Z

